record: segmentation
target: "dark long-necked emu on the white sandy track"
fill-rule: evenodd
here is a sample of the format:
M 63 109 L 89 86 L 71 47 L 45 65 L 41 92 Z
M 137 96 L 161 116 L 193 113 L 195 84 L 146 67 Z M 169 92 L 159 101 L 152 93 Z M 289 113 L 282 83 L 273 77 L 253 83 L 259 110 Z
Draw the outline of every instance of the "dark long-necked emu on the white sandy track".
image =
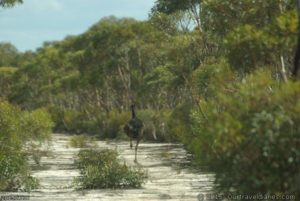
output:
M 136 117 L 135 114 L 135 105 L 131 105 L 131 119 L 125 124 L 124 132 L 130 138 L 130 147 L 132 148 L 132 140 L 136 139 L 135 145 L 135 158 L 134 161 L 137 162 L 137 149 L 140 140 L 143 138 L 143 122 Z

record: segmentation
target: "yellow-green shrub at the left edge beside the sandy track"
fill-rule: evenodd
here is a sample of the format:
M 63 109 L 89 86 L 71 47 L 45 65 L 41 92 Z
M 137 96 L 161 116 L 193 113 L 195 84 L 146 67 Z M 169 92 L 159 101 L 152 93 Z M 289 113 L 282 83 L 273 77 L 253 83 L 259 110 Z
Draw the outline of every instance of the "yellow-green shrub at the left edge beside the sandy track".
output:
M 0 191 L 29 191 L 38 186 L 29 174 L 27 156 L 50 140 L 51 127 L 45 110 L 21 111 L 0 100 Z

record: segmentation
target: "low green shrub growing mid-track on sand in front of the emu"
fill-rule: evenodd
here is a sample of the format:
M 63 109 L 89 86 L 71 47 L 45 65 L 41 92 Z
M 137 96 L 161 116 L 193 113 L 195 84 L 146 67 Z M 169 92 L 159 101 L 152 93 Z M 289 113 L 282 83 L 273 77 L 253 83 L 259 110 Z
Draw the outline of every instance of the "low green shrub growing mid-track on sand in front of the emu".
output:
M 118 154 L 113 150 L 81 150 L 77 167 L 81 176 L 75 178 L 75 184 L 81 189 L 98 188 L 139 188 L 146 174 L 120 164 Z

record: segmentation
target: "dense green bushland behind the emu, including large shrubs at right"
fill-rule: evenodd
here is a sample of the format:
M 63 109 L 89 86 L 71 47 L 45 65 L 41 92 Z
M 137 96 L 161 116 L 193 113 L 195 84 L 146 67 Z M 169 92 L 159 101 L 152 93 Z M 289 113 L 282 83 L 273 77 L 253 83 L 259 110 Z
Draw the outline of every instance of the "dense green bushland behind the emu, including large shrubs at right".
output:
M 135 102 L 145 139 L 184 143 L 221 192 L 297 194 L 295 2 L 157 0 L 147 21 L 103 18 L 35 52 L 0 44 L 1 95 L 47 108 L 56 131 L 121 139 Z

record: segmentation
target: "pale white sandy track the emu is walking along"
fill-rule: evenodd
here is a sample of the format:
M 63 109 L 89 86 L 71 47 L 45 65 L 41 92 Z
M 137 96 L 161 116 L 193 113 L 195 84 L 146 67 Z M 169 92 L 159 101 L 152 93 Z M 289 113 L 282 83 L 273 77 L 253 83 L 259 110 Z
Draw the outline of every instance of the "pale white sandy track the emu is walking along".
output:
M 182 200 L 197 201 L 199 193 L 211 193 L 214 175 L 192 171 L 183 164 L 188 163 L 187 153 L 182 145 L 170 143 L 141 143 L 139 145 L 139 165 L 148 172 L 148 180 L 141 189 L 129 190 L 75 190 L 73 178 L 79 176 L 74 160 L 79 149 L 71 148 L 71 136 L 54 134 L 50 147 L 51 154 L 42 157 L 41 167 L 34 168 L 34 177 L 40 180 L 40 188 L 28 193 L 1 193 L 0 198 L 12 195 L 27 195 L 30 201 L 157 201 Z M 117 149 L 120 159 L 128 165 L 136 165 L 134 150 L 129 142 L 97 141 L 99 148 Z M 34 163 L 31 162 L 33 165 Z

